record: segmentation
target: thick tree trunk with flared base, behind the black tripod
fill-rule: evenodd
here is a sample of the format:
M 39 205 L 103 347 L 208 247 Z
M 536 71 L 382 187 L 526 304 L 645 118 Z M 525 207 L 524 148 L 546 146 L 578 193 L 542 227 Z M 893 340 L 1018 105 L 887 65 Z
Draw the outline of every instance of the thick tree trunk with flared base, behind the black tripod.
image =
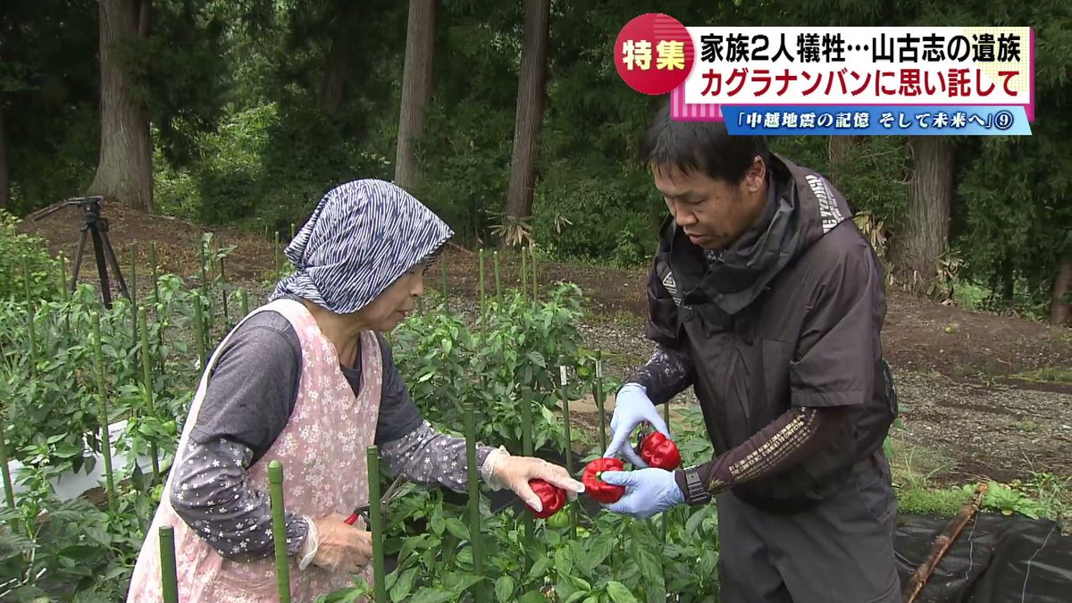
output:
M 100 6 L 101 156 L 89 193 L 151 214 L 149 112 L 134 97 L 132 77 L 121 56 L 122 43 L 139 35 L 143 11 L 148 14 L 148 6 L 143 8 L 138 0 L 100 0 Z

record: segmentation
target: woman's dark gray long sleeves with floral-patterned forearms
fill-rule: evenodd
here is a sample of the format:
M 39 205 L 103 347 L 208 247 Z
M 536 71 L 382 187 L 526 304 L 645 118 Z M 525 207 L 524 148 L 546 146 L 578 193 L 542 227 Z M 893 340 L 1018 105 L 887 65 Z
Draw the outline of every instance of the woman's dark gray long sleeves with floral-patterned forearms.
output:
M 384 371 L 375 442 L 388 472 L 464 489 L 465 440 L 436 432 L 423 421 L 386 340 L 377 339 Z M 301 362 L 298 334 L 282 314 L 264 311 L 250 318 L 221 351 L 188 448 L 180 451 L 170 503 L 224 557 L 272 551 L 268 496 L 249 482 L 247 470 L 286 426 L 297 402 Z M 361 367 L 341 369 L 357 393 Z M 477 446 L 478 466 L 491 450 Z M 300 516 L 287 514 L 289 554 L 300 550 L 307 530 Z

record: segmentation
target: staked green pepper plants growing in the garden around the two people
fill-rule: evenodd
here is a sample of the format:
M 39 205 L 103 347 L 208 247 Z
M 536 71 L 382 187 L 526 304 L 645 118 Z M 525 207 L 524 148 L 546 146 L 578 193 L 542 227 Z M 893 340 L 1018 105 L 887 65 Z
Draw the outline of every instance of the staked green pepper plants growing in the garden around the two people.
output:
M 92 285 L 71 291 L 62 259 L 30 251 L 0 274 L 0 453 L 15 469 L 0 464 L 0 598 L 123 598 L 202 367 L 249 310 L 248 295 L 225 279 L 228 250 L 209 244 L 197 286 L 158 275 L 150 247 L 142 281 L 151 285 L 138 292 L 142 281 L 128 275 L 130 298 L 110 308 Z M 449 311 L 444 281 L 389 339 L 414 400 L 438 429 L 576 472 L 605 442 L 575 441 L 569 401 L 591 393 L 601 402 L 616 384 L 604 383 L 598 352 L 581 344 L 580 291 L 536 286 L 531 258 L 517 289 L 495 278 L 493 254 L 481 262 L 475 318 Z M 702 437 L 690 438 L 698 424 L 673 426 L 686 462 L 710 454 Z M 381 491 L 387 479 L 374 482 Z M 103 488 L 64 489 L 87 480 Z M 671 600 L 688 601 L 717 592 L 713 509 L 637 521 L 582 497 L 538 519 L 512 497 L 479 489 L 475 476 L 465 492 L 406 485 L 378 528 L 373 520 L 383 582 L 324 600 L 368 590 L 384 601 L 654 601 L 675 592 L 689 594 Z

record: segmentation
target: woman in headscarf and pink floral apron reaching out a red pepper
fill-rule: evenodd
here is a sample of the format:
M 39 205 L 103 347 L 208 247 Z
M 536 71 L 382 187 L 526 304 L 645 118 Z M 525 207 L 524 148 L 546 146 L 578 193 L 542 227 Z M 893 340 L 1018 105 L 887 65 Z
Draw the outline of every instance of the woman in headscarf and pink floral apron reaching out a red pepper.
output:
M 245 317 L 208 363 L 176 462 L 138 556 L 128 601 L 161 598 L 158 532 L 175 530 L 183 601 L 276 599 L 267 471 L 286 469 L 286 543 L 296 601 L 372 582 L 371 534 L 345 523 L 368 500 L 366 447 L 387 471 L 463 490 L 465 441 L 436 432 L 410 398 L 378 335 L 423 293 L 423 274 L 453 233 L 394 185 L 328 192 L 286 249 L 295 273 Z M 477 447 L 492 489 L 540 508 L 542 479 L 576 496 L 565 469 Z

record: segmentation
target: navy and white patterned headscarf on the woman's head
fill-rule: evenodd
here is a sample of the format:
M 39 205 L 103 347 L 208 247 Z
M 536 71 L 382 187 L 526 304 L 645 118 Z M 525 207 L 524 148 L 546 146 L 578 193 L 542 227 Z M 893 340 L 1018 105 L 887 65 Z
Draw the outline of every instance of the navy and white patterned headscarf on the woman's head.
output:
M 430 262 L 453 236 L 431 209 L 383 180 L 328 191 L 286 248 L 295 273 L 271 299 L 293 294 L 332 312 L 367 306 L 399 277 Z

